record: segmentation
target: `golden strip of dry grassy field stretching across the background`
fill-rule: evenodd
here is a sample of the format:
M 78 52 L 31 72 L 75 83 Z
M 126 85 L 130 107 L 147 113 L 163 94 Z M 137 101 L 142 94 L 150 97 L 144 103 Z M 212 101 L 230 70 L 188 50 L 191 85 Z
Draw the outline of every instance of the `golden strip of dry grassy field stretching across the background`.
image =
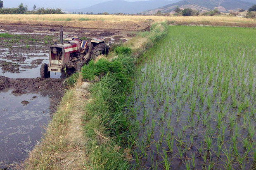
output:
M 142 30 L 152 22 L 178 25 L 256 27 L 255 19 L 235 16 L 0 15 L 2 24 L 45 25 L 93 29 Z

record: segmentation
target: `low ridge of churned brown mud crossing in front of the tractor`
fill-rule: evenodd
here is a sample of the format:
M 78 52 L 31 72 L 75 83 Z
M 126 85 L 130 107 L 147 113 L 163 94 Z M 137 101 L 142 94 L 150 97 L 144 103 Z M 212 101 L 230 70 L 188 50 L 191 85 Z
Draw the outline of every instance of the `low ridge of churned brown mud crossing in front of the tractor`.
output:
M 0 76 L 0 91 L 14 88 L 15 94 L 38 93 L 43 95 L 62 96 L 64 80 L 55 78 L 7 78 Z

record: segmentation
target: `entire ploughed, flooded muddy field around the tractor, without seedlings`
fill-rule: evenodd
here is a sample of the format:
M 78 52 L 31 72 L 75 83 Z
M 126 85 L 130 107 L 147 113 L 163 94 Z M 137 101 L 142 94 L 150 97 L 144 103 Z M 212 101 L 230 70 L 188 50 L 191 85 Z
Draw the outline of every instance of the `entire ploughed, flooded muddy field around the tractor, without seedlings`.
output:
M 64 28 L 64 38 L 74 36 L 103 37 L 111 46 L 134 35 L 124 30 Z M 0 25 L 0 168 L 26 159 L 64 94 L 66 74 L 39 78 L 53 39 L 59 39 L 58 27 Z

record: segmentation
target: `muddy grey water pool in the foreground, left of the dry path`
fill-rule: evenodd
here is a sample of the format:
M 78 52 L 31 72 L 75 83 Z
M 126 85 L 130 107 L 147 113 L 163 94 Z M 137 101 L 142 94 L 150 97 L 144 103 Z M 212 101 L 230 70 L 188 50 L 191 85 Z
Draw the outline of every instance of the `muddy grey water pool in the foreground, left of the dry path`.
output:
M 11 92 L 0 92 L 0 168 L 24 160 L 50 120 L 48 96 Z

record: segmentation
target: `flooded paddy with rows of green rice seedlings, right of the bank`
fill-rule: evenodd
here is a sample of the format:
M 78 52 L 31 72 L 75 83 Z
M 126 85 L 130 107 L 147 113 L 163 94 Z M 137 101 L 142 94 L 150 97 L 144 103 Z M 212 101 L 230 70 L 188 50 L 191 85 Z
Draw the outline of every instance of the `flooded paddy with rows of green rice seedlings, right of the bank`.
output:
M 256 29 L 169 26 L 131 98 L 133 168 L 256 168 Z

